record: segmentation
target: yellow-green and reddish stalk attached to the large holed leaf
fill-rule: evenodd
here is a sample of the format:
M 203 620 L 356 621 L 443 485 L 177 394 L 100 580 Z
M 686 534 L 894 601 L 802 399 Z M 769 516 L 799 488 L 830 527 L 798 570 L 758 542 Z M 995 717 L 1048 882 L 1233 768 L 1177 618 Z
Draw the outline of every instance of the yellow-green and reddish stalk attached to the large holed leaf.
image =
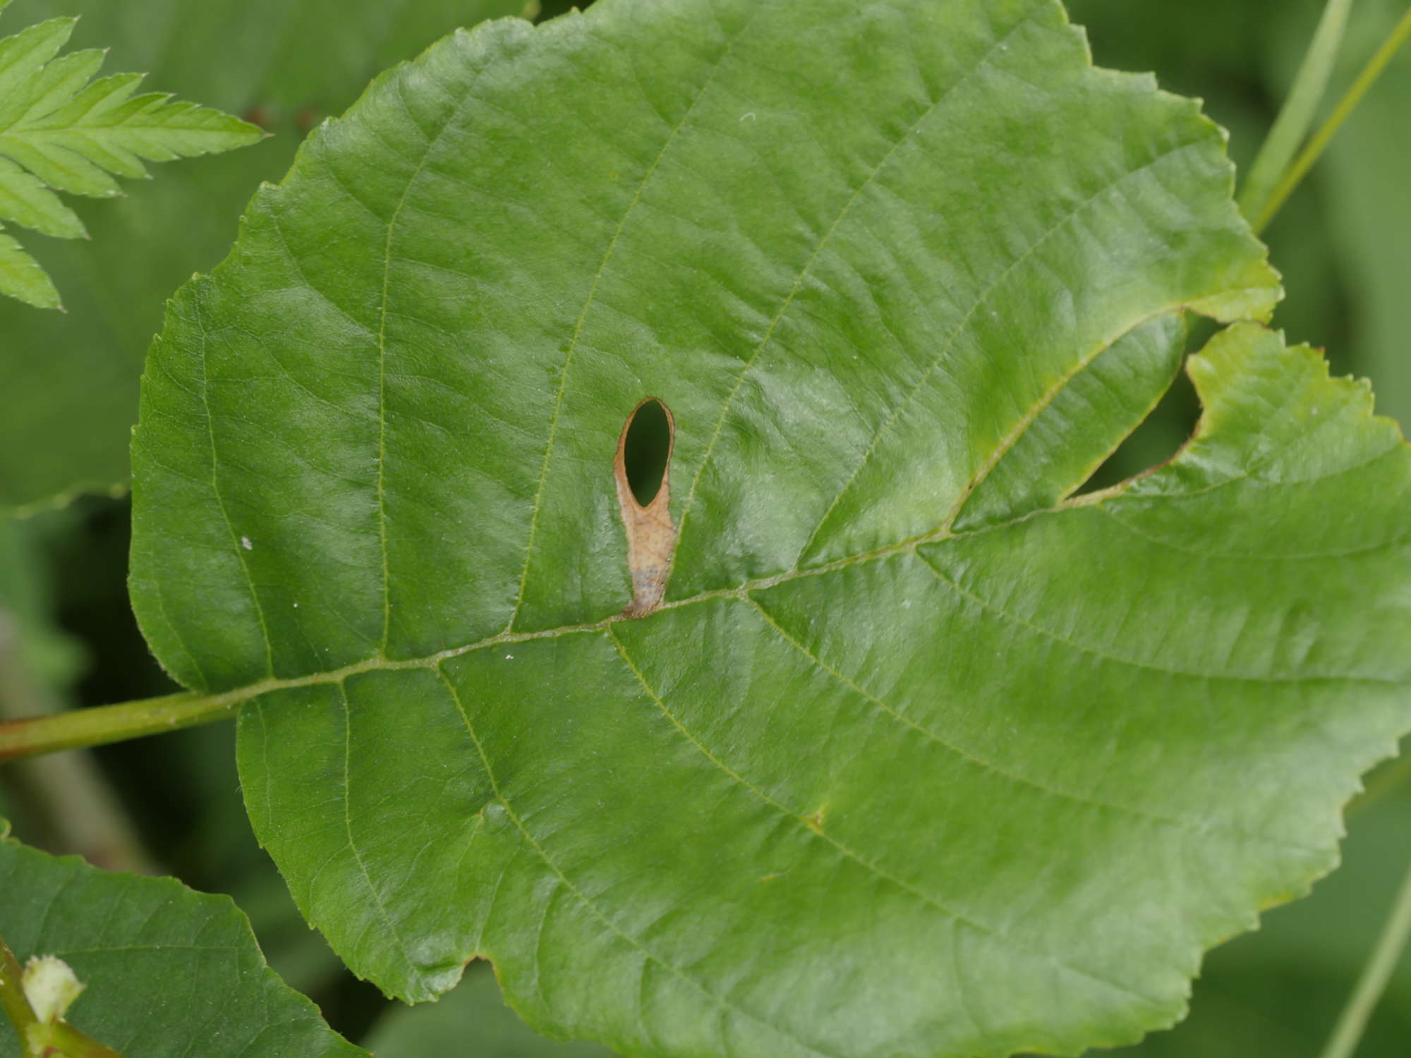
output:
M 54 753 L 78 746 L 102 746 L 143 735 L 210 724 L 234 715 L 234 708 L 251 697 L 248 690 L 226 694 L 166 694 L 159 698 L 126 701 L 71 710 L 48 717 L 30 717 L 0 724 L 0 763 L 37 753 Z

